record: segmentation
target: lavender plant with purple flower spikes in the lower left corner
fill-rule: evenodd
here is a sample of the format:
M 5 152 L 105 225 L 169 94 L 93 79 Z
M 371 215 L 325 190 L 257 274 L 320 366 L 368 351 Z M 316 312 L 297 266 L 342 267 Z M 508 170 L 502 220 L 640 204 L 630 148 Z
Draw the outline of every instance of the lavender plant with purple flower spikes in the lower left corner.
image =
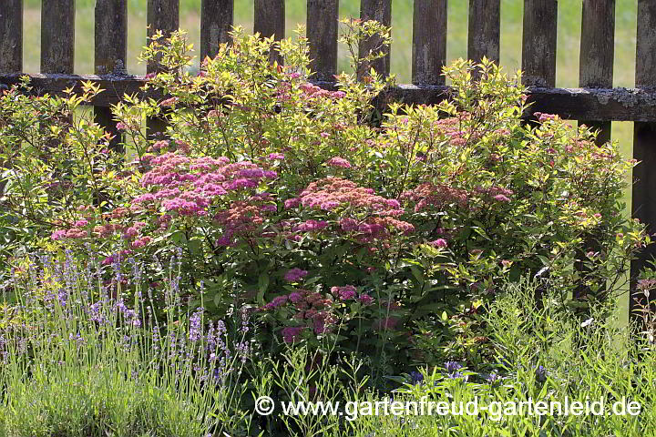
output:
M 202 307 L 180 299 L 179 264 L 171 259 L 159 320 L 152 290 L 138 285 L 135 259 L 118 256 L 107 285 L 107 268 L 87 260 L 70 251 L 63 260 L 31 256 L 13 272 L 0 324 L 0 429 L 31 437 L 246 430 L 248 317 L 234 314 L 230 333 L 224 321 L 207 320 Z M 121 293 L 126 280 L 137 283 L 129 300 Z

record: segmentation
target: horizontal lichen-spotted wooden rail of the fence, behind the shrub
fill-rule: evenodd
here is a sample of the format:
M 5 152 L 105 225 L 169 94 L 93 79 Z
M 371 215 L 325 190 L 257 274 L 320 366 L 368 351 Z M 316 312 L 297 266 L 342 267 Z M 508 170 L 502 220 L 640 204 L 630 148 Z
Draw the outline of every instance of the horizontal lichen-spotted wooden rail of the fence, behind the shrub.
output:
M 12 86 L 21 74 L 0 75 L 0 83 Z M 55 75 L 30 74 L 33 93 L 61 96 L 67 88 L 76 92 L 83 82 L 91 81 L 105 91 L 90 105 L 108 107 L 118 103 L 125 94 L 139 97 L 164 98 L 154 89 L 144 91 L 144 76 L 131 75 Z M 334 88 L 331 82 L 317 82 L 324 88 Z M 399 101 L 415 105 L 435 105 L 448 97 L 449 86 L 399 85 L 384 91 L 379 102 Z M 656 86 L 643 88 L 547 88 L 528 87 L 528 107 L 525 117 L 536 112 L 558 114 L 567 119 L 599 121 L 656 122 Z

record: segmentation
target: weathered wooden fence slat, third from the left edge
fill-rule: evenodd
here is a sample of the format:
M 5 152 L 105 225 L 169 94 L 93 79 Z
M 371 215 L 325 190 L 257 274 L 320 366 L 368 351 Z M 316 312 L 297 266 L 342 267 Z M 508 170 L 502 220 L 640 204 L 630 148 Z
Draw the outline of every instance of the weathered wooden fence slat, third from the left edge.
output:
M 96 0 L 95 56 L 97 75 L 126 74 L 128 59 L 128 0 Z M 118 150 L 120 131 L 111 109 L 94 107 L 95 121 L 114 136 L 110 146 Z

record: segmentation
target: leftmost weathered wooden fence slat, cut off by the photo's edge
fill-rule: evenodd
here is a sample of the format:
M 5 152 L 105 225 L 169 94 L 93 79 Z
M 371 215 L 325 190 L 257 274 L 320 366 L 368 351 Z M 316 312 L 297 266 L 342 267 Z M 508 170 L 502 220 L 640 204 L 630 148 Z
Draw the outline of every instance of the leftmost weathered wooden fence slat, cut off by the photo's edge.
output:
M 23 0 L 4 0 L 0 8 L 0 71 L 23 71 Z

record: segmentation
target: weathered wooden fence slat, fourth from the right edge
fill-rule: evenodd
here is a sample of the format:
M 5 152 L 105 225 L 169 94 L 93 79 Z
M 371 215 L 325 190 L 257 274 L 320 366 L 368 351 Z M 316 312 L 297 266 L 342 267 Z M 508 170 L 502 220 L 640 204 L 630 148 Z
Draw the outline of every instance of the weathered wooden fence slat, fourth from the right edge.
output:
M 469 0 L 467 57 L 480 62 L 483 56 L 499 61 L 501 0 Z

